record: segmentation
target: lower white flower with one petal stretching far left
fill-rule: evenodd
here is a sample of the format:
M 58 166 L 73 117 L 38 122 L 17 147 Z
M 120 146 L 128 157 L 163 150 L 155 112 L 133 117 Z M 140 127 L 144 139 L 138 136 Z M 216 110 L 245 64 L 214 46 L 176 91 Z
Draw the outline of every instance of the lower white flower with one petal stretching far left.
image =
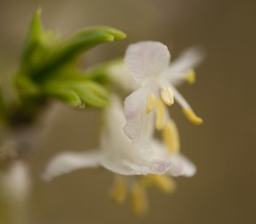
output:
M 90 152 L 63 152 L 53 158 L 44 172 L 44 179 L 69 173 L 75 169 L 102 166 L 120 175 L 170 175 L 191 176 L 195 165 L 180 154 L 171 155 L 166 146 L 151 141 L 152 150 L 137 150 L 123 132 L 125 116 L 117 98 L 104 112 L 104 128 L 98 149 Z

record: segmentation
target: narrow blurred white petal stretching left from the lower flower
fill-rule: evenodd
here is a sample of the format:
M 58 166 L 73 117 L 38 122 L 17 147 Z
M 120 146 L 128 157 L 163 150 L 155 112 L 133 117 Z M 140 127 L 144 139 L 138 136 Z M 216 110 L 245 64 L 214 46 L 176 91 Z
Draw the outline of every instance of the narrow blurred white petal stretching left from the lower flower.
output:
M 51 181 L 59 175 L 70 173 L 76 169 L 96 167 L 99 165 L 101 152 L 63 152 L 53 158 L 46 170 L 43 178 Z

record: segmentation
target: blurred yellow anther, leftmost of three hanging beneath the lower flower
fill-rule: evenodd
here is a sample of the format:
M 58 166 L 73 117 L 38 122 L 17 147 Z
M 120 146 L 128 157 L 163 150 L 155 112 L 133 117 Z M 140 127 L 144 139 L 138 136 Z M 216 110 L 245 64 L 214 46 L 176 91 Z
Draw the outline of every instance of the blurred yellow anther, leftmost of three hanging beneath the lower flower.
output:
M 127 185 L 124 176 L 117 176 L 110 192 L 110 198 L 117 204 L 123 204 L 127 195 Z

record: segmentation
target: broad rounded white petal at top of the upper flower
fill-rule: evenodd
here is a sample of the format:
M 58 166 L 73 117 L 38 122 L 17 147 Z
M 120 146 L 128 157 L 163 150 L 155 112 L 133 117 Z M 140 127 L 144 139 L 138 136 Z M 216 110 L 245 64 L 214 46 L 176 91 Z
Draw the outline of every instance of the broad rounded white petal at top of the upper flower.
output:
M 170 58 L 166 45 L 147 41 L 131 44 L 126 50 L 125 63 L 138 83 L 147 83 L 166 69 Z

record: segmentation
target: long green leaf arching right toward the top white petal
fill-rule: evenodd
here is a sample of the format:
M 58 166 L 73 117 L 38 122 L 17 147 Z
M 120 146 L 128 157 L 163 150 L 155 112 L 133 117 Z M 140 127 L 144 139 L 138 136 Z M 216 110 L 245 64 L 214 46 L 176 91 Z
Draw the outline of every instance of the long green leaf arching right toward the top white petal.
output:
M 33 79 L 44 81 L 53 75 L 61 66 L 67 66 L 84 51 L 95 47 L 99 43 L 113 42 L 114 39 L 125 37 L 125 33 L 107 26 L 96 26 L 79 32 L 67 38 L 55 49 L 49 52 L 48 57 L 42 60 L 41 65 L 34 71 Z

